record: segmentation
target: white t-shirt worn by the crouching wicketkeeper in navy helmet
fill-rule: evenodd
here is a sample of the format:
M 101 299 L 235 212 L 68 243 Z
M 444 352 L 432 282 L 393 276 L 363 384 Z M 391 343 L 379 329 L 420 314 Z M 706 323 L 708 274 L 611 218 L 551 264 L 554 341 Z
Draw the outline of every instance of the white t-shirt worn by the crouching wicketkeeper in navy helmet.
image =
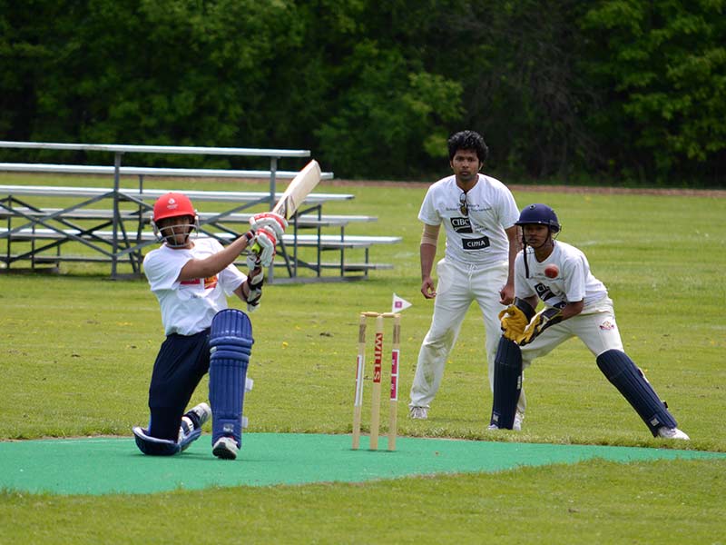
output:
M 525 276 L 524 252 L 515 260 L 515 295 L 520 299 L 536 295 L 550 307 L 562 308 L 568 302 L 584 301 L 583 314 L 594 311 L 597 302 L 607 297 L 607 289 L 590 272 L 584 253 L 568 243 L 554 241 L 554 250 L 544 262 L 535 258 L 535 249 L 526 247 L 529 278 Z M 555 278 L 547 278 L 544 269 L 556 265 Z

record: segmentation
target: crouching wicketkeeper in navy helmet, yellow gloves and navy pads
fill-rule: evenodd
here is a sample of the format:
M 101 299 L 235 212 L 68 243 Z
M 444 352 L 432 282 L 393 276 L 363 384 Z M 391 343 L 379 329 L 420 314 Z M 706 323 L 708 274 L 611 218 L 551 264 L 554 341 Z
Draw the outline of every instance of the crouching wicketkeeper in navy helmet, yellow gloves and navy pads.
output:
M 495 358 L 489 429 L 512 429 L 523 370 L 535 358 L 578 337 L 653 437 L 688 440 L 643 372 L 623 352 L 613 302 L 603 282 L 590 272 L 584 253 L 554 241 L 561 230 L 554 211 L 530 204 L 517 224 L 522 226 L 525 249 L 515 261 L 515 303 L 500 314 L 503 334 Z M 535 313 L 538 299 L 545 308 Z

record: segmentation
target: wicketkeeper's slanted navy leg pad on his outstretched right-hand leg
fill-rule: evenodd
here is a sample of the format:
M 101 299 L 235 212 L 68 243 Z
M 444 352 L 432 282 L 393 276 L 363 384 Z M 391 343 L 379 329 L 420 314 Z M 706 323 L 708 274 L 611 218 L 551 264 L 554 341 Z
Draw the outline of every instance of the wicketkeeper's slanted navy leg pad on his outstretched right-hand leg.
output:
M 653 437 L 658 435 L 661 426 L 666 428 L 677 426 L 672 414 L 652 389 L 651 383 L 645 379 L 643 372 L 625 352 L 619 350 L 603 352 L 597 357 L 597 366 L 633 406 Z

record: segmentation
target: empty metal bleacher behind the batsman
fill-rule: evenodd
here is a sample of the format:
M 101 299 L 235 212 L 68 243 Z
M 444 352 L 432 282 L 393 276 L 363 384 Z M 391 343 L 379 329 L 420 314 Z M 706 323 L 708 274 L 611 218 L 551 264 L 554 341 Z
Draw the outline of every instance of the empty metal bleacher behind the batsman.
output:
M 145 177 L 268 179 L 269 192 L 181 190 L 194 203 L 215 203 L 216 212 L 200 213 L 200 232 L 221 243 L 229 243 L 247 230 L 252 209 L 258 209 L 254 212 L 269 210 L 277 201 L 281 195 L 276 188 L 277 181 L 292 179 L 297 174 L 296 171 L 278 170 L 280 158 L 310 155 L 306 150 L 121 144 L 0 142 L 0 148 L 3 147 L 110 152 L 114 155 L 114 164 L 0 163 L 0 172 L 8 173 L 113 176 L 113 187 L 0 185 L 0 220 L 5 223 L 0 228 L 0 272 L 10 271 L 13 265 L 22 262 L 30 263 L 31 268 L 50 265 L 55 269 L 62 262 L 110 263 L 112 278 L 124 275 L 119 268 L 122 264 L 130 265 L 132 274 L 141 272 L 143 254 L 158 243 L 149 226 L 153 202 L 163 193 L 179 191 L 176 185 L 169 189 L 144 188 Z M 130 153 L 269 157 L 270 170 L 122 166 L 123 154 Z M 137 177 L 138 183 L 132 188 L 122 187 L 122 177 L 124 180 Z M 323 180 L 332 177 L 332 173 L 322 174 Z M 392 268 L 387 263 L 371 263 L 369 249 L 374 244 L 398 243 L 400 237 L 345 233 L 348 224 L 373 222 L 376 217 L 322 213 L 325 203 L 353 198 L 352 194 L 310 193 L 299 212 L 290 219 L 290 229 L 280 241 L 276 261 L 268 272 L 269 281 L 273 277 L 276 282 L 351 280 L 367 277 L 370 270 Z M 55 206 L 48 206 L 56 201 Z M 324 228 L 332 229 L 333 233 L 324 233 Z M 303 230 L 313 233 L 301 233 Z M 360 255 L 354 255 L 358 259 L 352 262 L 347 250 L 362 253 L 362 259 Z M 334 253 L 336 259 L 325 262 L 324 253 Z M 275 274 L 275 270 L 287 272 L 287 276 Z M 335 275 L 325 275 L 325 270 L 331 270 Z

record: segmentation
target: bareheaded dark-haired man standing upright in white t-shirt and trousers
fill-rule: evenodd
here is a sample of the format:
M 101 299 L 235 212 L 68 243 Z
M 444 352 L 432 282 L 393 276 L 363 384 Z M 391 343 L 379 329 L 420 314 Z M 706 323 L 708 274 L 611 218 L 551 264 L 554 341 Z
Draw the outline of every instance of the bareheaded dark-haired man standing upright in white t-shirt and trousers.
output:
M 418 352 L 409 403 L 413 419 L 426 419 L 444 375 L 461 322 L 472 302 L 479 305 L 486 328 L 486 361 L 490 386 L 499 341 L 498 314 L 514 298 L 514 263 L 519 249 L 515 222 L 519 211 L 504 183 L 479 171 L 488 148 L 474 131 L 453 134 L 448 140 L 453 175 L 432 184 L 418 219 L 421 236 L 421 292 L 435 299 L 430 329 Z M 435 288 L 431 270 L 441 225 L 446 252 L 437 263 Z M 525 399 L 522 398 L 524 407 Z

